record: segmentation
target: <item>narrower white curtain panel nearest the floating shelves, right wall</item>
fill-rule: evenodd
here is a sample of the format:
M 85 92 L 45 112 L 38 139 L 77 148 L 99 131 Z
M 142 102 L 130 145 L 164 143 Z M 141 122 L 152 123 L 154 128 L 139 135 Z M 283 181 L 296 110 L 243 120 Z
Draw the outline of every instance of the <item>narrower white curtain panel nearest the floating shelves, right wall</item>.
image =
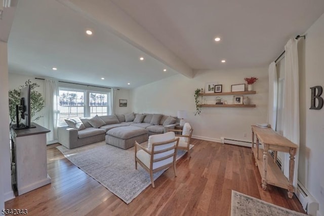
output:
M 277 122 L 278 80 L 275 62 L 269 65 L 268 123 L 275 131 Z

